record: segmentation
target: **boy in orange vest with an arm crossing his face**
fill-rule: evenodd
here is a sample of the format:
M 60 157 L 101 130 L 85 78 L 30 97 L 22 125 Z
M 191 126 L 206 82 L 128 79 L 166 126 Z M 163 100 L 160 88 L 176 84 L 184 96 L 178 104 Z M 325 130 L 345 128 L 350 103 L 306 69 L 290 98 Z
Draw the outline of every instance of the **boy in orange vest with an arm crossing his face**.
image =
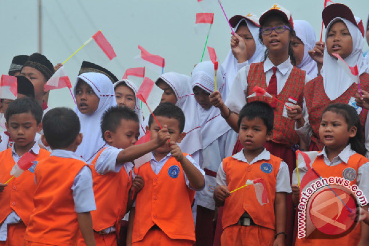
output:
M 177 145 L 184 136 L 184 114 L 171 103 L 161 103 L 149 118 L 151 139 L 166 126 L 170 143 L 151 152 L 151 160 L 139 168 L 145 186 L 137 194 L 132 245 L 193 245 L 195 228 L 191 205 L 195 190 L 205 185 L 204 171 Z M 131 211 L 132 212 L 132 211 Z

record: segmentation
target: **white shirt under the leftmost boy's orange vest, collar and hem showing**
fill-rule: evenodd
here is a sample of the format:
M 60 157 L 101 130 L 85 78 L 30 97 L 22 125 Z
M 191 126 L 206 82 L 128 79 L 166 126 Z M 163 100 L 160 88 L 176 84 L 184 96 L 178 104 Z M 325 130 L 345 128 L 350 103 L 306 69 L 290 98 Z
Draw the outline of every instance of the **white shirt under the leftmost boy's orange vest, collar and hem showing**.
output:
M 40 147 L 38 146 L 37 143 L 35 143 L 28 152 L 38 155 L 39 151 L 40 151 Z M 11 146 L 11 154 L 13 156 L 14 162 L 17 163 L 18 160 L 21 158 L 21 156 L 18 156 L 17 152 L 15 152 L 14 145 Z M 21 220 L 22 219 L 17 215 L 17 213 L 15 211 L 12 211 L 6 217 L 6 219 L 4 219 L 4 222 L 0 225 L 0 241 L 6 241 L 7 239 L 8 224 L 18 224 Z

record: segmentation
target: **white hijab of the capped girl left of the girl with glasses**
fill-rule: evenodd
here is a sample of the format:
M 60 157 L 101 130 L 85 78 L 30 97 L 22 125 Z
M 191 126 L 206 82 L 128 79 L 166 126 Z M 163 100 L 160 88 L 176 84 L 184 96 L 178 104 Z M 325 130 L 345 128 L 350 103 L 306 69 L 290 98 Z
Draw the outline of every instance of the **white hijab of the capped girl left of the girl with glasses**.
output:
M 263 44 L 261 44 L 261 42 L 259 41 L 259 27 L 256 26 L 251 21 L 243 18 L 242 20 L 240 20 L 238 22 L 238 24 L 236 25 L 234 30 L 237 31 L 238 26 L 239 26 L 239 24 L 241 24 L 242 21 L 246 22 L 246 25 L 249 28 L 252 37 L 254 38 L 255 46 L 256 46 L 255 53 L 248 60 L 248 64 L 261 62 L 264 58 L 265 46 Z M 234 78 L 236 77 L 236 74 L 238 72 L 237 64 L 238 64 L 238 60 L 234 57 L 234 55 L 232 53 L 232 49 L 231 49 L 230 52 L 228 52 L 227 57 L 224 59 L 224 62 L 221 65 L 221 67 L 222 67 L 222 69 L 223 69 L 223 71 L 225 72 L 225 75 L 226 75 L 225 82 L 228 86 L 228 90 L 231 89 Z

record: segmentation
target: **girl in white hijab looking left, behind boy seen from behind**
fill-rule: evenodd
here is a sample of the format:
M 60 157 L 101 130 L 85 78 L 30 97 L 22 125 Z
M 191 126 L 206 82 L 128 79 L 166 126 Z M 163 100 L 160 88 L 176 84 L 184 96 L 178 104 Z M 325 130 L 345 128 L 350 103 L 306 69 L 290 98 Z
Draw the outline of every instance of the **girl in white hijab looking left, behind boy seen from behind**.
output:
M 76 154 L 86 163 L 91 163 L 96 154 L 106 146 L 99 127 L 104 111 L 117 105 L 114 87 L 106 75 L 82 73 L 77 77 L 74 94 L 77 101 L 74 111 L 79 117 L 83 134 Z

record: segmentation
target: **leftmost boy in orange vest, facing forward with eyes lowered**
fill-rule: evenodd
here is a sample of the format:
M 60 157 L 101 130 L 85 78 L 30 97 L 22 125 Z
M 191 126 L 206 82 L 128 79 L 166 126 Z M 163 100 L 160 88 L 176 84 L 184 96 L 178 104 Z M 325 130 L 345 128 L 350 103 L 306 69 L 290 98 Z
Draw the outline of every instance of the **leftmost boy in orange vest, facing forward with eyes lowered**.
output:
M 14 100 L 5 116 L 14 145 L 0 153 L 0 245 L 22 245 L 34 209 L 35 165 L 50 153 L 35 143 L 35 135 L 41 129 L 42 108 L 34 99 Z M 10 179 L 10 170 L 26 152 L 36 156 L 34 165 L 20 177 L 3 184 Z

